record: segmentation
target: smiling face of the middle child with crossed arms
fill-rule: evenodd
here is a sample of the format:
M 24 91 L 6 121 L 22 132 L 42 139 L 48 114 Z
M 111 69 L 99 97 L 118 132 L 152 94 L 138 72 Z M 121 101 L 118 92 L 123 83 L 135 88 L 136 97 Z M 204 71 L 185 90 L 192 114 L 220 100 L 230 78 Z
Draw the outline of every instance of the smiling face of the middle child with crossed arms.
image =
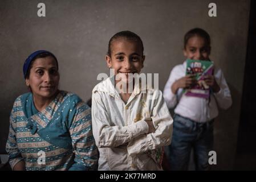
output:
M 128 73 L 140 73 L 145 56 L 141 45 L 135 41 L 119 38 L 111 43 L 111 57 L 105 57 L 108 68 L 115 69 L 115 75 L 121 74 L 122 81 L 128 82 Z M 117 80 L 118 81 L 118 80 Z

